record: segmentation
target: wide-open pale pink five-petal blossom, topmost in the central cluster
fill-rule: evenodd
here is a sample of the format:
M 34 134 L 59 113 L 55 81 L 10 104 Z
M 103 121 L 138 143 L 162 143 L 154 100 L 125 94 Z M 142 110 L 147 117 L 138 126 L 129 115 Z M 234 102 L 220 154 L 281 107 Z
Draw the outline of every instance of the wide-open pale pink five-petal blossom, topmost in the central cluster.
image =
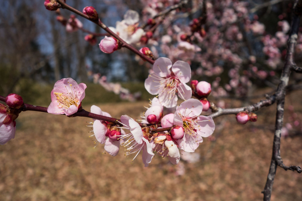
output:
M 192 96 L 191 87 L 186 85 L 191 79 L 191 68 L 187 62 L 177 61 L 172 65 L 168 58 L 160 57 L 153 64 L 154 73 L 145 80 L 146 90 L 152 94 L 159 94 L 158 99 L 165 107 L 175 107 L 177 96 L 183 100 Z

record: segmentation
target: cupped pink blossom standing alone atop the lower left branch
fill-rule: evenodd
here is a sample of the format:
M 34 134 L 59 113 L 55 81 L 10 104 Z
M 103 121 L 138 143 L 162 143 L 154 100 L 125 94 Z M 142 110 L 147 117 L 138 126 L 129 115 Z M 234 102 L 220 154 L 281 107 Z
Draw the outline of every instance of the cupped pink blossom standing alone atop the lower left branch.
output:
M 72 78 L 63 78 L 57 81 L 50 93 L 51 103 L 47 112 L 51 114 L 72 115 L 81 107 L 85 97 L 86 85 L 78 85 Z

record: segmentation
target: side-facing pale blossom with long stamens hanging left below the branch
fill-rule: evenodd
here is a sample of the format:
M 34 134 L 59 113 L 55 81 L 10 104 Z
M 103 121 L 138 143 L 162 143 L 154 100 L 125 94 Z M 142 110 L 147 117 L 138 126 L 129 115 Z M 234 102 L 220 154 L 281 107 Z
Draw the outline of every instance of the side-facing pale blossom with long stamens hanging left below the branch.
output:
M 140 125 L 130 116 L 123 115 L 120 117 L 120 120 L 124 125 L 124 128 L 130 130 L 129 134 L 123 136 L 124 138 L 128 138 L 122 144 L 125 147 L 125 155 L 130 155 L 137 152 L 137 154 L 132 159 L 133 161 L 140 153 L 140 151 L 143 151 L 143 163 L 145 164 L 145 167 L 147 167 L 154 156 L 148 134 L 143 131 Z

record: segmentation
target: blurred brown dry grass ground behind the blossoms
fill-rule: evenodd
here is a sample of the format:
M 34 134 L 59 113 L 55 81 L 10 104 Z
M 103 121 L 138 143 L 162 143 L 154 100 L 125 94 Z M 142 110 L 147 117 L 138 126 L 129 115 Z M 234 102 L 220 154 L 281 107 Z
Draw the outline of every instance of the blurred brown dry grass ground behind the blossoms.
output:
M 300 97 L 287 101 L 301 119 Z M 113 117 L 138 118 L 143 105 L 98 106 Z M 102 154 L 103 145 L 93 149 L 88 118 L 21 113 L 15 139 L 0 146 L 0 200 L 261 200 L 274 118 L 271 106 L 258 112 L 255 123 L 239 125 L 234 115 L 215 119 L 217 140 L 204 139 L 197 149 L 201 160 L 182 161 L 185 174 L 176 176 L 178 166 L 167 158 L 156 156 L 144 168 L 140 157 L 131 164 L 133 156 L 126 158 L 122 149 L 116 157 Z M 301 145 L 301 136 L 281 140 L 285 164 L 302 165 Z M 301 189 L 301 174 L 278 168 L 272 200 L 301 200 Z

